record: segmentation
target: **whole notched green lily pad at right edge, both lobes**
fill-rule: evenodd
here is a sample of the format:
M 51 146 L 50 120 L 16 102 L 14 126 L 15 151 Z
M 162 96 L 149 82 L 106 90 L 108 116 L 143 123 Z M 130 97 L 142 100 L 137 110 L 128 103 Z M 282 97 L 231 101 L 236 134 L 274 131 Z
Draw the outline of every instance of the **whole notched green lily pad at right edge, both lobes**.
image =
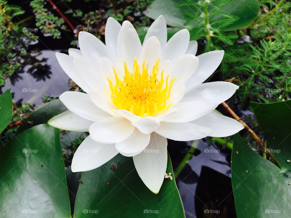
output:
M 237 217 L 287 218 L 291 211 L 291 118 L 287 115 L 291 101 L 251 105 L 280 168 L 235 135 L 231 171 Z

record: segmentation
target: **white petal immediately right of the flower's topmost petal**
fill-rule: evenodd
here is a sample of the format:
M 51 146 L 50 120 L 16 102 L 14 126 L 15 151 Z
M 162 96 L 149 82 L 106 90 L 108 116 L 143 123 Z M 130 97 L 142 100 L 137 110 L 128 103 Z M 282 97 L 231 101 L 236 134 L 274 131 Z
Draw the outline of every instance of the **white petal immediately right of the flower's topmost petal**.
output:
M 169 60 L 172 64 L 185 54 L 189 45 L 190 34 L 187 29 L 177 32 L 162 49 L 162 61 Z

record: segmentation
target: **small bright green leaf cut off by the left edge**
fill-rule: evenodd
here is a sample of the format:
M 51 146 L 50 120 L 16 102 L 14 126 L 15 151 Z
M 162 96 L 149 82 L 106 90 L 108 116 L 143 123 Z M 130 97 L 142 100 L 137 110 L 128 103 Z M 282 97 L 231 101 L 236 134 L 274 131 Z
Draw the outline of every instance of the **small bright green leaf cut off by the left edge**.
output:
M 7 89 L 0 95 L 0 133 L 8 126 L 12 118 L 12 95 Z

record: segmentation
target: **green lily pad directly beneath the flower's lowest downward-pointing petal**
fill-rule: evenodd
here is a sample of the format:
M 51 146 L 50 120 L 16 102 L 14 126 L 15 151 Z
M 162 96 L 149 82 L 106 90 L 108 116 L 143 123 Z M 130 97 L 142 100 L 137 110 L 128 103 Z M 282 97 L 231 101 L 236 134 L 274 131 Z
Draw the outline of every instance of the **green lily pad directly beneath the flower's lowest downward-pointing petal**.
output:
M 118 169 L 111 170 L 111 164 Z M 167 173 L 170 172 L 173 174 L 168 155 Z M 165 179 L 159 194 L 153 194 L 139 178 L 131 157 L 118 154 L 101 167 L 83 172 L 81 180 L 75 218 L 185 217 L 174 178 Z

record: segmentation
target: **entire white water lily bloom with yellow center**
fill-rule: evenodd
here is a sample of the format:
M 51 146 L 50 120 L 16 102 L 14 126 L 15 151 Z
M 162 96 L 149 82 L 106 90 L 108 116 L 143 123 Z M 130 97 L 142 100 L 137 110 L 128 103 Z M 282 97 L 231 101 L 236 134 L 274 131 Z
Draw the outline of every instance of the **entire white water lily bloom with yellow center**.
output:
M 166 21 L 160 16 L 141 44 L 129 21 L 120 25 L 109 18 L 106 45 L 80 32 L 80 50 L 56 54 L 65 73 L 86 92 L 63 93 L 59 98 L 69 111 L 48 122 L 63 130 L 89 131 L 73 157 L 73 172 L 95 169 L 120 153 L 133 157 L 142 181 L 158 193 L 168 171 L 167 138 L 226 137 L 243 129 L 214 111 L 239 87 L 202 83 L 224 51 L 196 57 L 197 42 L 189 38 L 183 29 L 167 41 Z

